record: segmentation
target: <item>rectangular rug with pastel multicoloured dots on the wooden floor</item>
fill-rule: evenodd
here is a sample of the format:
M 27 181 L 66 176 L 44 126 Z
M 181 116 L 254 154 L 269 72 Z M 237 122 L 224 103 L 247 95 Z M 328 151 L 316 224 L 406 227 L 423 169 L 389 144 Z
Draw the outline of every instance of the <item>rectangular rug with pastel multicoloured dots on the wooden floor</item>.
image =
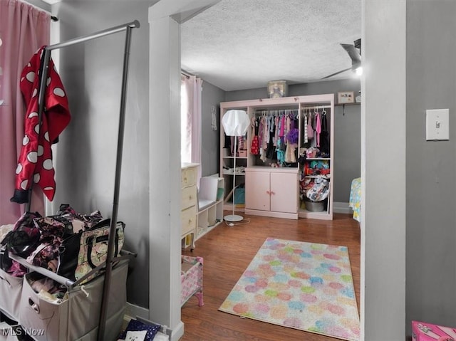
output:
M 342 340 L 360 337 L 346 246 L 267 238 L 219 310 Z

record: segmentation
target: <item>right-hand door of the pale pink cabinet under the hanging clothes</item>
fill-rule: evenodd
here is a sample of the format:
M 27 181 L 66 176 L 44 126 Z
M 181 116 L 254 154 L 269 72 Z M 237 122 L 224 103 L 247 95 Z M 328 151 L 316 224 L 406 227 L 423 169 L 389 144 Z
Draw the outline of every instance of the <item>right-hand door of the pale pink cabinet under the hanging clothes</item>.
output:
M 271 173 L 271 211 L 298 211 L 298 176 L 296 173 Z

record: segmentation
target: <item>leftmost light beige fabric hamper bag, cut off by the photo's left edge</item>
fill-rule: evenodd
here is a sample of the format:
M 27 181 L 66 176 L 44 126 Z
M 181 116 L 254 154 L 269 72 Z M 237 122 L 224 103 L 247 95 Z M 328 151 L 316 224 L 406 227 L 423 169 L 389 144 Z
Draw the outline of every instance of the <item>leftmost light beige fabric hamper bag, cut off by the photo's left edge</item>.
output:
M 0 310 L 16 321 L 19 320 L 22 281 L 22 277 L 13 277 L 0 269 Z

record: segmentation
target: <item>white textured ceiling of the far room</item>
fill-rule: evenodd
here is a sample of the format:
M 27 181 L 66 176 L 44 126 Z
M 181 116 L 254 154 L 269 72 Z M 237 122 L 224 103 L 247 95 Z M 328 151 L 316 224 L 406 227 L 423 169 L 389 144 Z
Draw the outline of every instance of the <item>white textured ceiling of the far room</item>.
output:
M 182 23 L 182 69 L 226 91 L 309 83 L 350 68 L 358 38 L 361 0 L 222 0 Z

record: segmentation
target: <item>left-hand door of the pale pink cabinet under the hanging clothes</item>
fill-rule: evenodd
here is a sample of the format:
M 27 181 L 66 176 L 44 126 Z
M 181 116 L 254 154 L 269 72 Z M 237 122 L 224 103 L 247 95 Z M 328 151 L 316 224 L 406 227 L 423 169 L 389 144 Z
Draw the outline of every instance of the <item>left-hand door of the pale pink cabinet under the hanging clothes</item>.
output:
M 269 211 L 269 172 L 246 172 L 245 208 Z

